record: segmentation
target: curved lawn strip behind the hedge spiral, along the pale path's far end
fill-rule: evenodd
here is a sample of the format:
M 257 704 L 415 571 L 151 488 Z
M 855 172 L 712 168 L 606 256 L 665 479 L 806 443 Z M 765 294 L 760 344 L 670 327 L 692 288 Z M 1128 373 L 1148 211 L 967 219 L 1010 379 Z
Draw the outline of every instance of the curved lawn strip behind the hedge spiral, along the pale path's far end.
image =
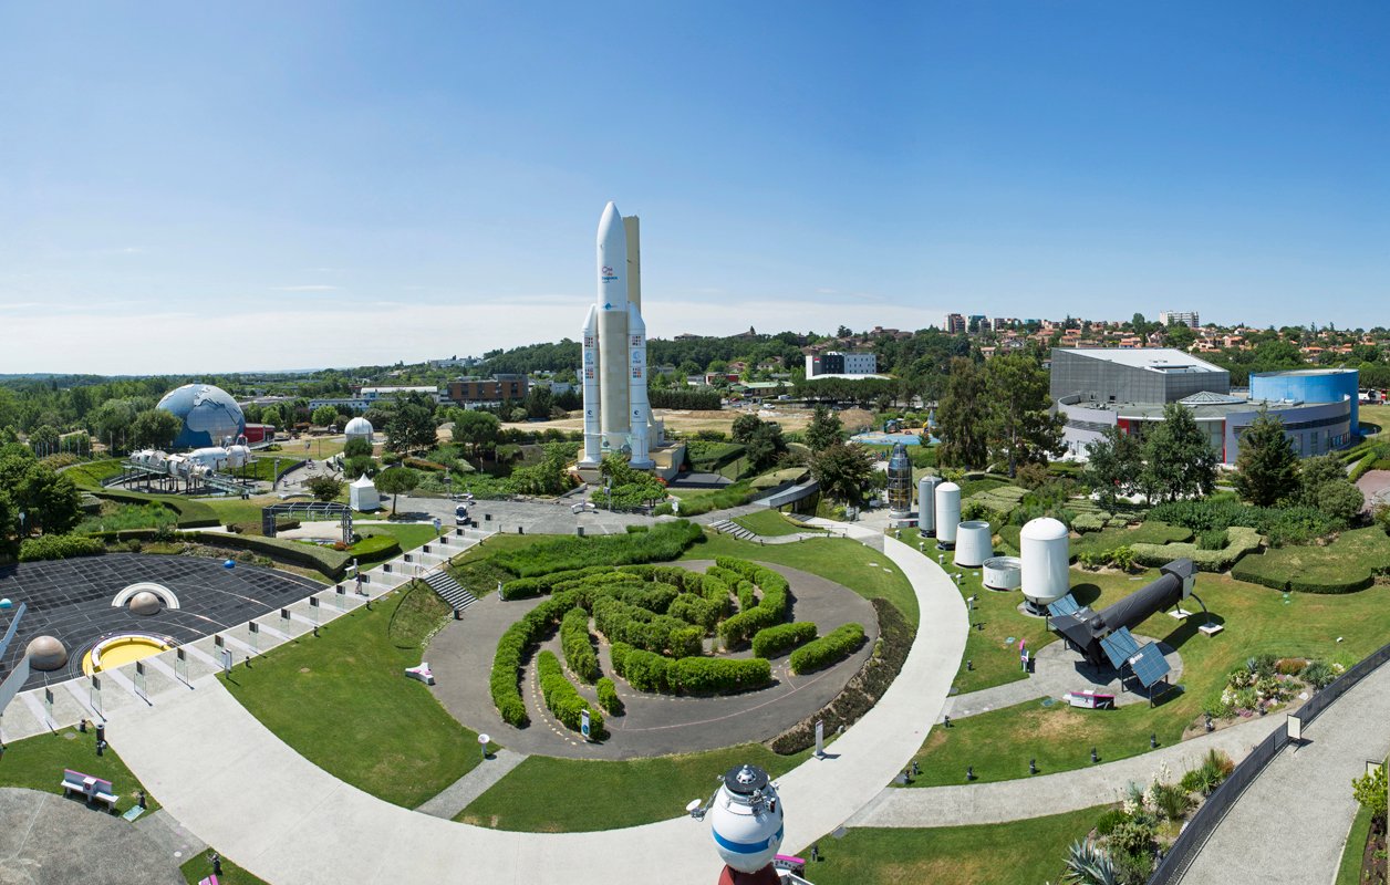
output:
M 691 546 L 681 560 L 712 560 L 717 556 L 762 560 L 809 571 L 842 584 L 865 599 L 885 599 L 902 611 L 909 624 L 917 625 L 917 596 L 906 575 L 887 556 L 858 540 L 810 538 L 798 543 L 762 546 L 727 535 L 706 534 L 705 540 Z

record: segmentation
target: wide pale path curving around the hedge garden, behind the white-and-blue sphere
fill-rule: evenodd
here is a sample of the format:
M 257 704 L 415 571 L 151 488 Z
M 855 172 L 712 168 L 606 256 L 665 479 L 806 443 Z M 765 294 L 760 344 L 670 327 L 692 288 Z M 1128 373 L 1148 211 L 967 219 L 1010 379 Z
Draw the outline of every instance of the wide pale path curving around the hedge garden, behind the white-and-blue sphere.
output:
M 898 679 L 833 745 L 833 756 L 780 778 L 788 852 L 845 822 L 912 759 L 965 652 L 966 611 L 945 572 L 891 539 L 884 553 L 916 590 L 917 640 Z M 122 711 L 110 741 L 174 817 L 268 882 L 659 878 L 706 885 L 719 874 L 709 824 L 687 817 L 602 832 L 523 834 L 389 804 L 295 753 L 215 678 L 199 679 L 196 688 L 171 703 Z

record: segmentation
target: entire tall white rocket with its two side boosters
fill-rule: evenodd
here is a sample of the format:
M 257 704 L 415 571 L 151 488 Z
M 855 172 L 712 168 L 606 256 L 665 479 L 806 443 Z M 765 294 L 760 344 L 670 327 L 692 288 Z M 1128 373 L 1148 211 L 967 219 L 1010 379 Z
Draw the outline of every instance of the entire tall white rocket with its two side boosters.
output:
M 623 218 L 609 203 L 599 218 L 598 299 L 584 320 L 584 364 L 580 368 L 584 457 L 580 467 L 596 467 L 610 453 L 626 454 L 638 470 L 653 467 L 638 239 L 637 217 Z

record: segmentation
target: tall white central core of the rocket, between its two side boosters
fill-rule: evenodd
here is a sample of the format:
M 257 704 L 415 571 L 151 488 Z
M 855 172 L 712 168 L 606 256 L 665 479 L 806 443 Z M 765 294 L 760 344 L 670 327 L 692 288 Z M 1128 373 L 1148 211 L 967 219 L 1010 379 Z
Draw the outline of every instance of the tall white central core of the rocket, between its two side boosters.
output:
M 612 450 L 628 445 L 627 229 L 609 203 L 598 231 L 599 424 Z M 645 358 L 645 357 L 644 357 Z M 645 371 L 644 371 L 645 378 Z

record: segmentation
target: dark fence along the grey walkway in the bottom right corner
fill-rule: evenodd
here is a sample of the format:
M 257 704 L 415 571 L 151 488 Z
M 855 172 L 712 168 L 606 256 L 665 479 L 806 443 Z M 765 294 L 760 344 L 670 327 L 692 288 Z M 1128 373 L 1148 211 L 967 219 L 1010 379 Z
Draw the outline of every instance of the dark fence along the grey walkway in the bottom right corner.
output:
M 1368 654 L 1347 670 L 1347 672 L 1337 677 L 1332 685 L 1309 697 L 1304 706 L 1298 707 L 1290 716 L 1298 718 L 1301 728 L 1307 728 L 1309 722 L 1318 718 L 1318 714 L 1336 703 L 1339 697 L 1355 688 L 1358 682 L 1375 672 L 1386 661 L 1390 661 L 1390 645 L 1384 645 Z M 1230 777 L 1207 797 L 1207 802 L 1197 810 L 1197 814 L 1183 827 L 1183 832 L 1179 834 L 1172 847 L 1169 847 L 1168 854 L 1158 863 L 1154 875 L 1150 877 L 1148 885 L 1176 885 L 1183 879 L 1188 867 L 1201 854 L 1202 846 L 1207 845 L 1216 827 L 1220 825 L 1222 818 L 1226 817 L 1226 813 L 1230 811 L 1236 802 L 1240 800 L 1240 795 L 1245 792 L 1245 788 L 1259 778 L 1265 766 L 1272 763 L 1287 743 L 1289 729 L 1280 728 L 1261 741 L 1259 746 L 1251 750 L 1250 756 L 1236 766 Z

